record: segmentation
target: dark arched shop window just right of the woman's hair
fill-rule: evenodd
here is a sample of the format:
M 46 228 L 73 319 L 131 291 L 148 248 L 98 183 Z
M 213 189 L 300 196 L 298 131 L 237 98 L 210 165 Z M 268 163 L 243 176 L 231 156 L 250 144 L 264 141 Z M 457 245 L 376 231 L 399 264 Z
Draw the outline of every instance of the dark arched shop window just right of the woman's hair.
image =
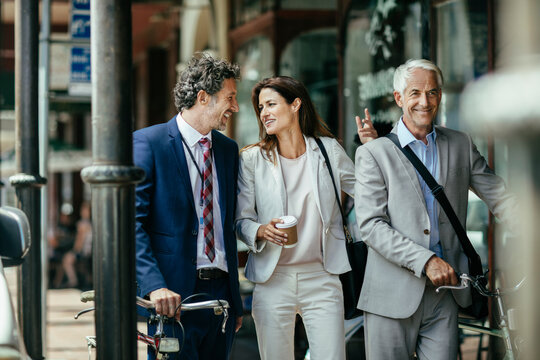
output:
M 337 133 L 337 54 L 335 28 L 310 31 L 292 40 L 281 55 L 280 75 L 304 83 L 317 112 Z

